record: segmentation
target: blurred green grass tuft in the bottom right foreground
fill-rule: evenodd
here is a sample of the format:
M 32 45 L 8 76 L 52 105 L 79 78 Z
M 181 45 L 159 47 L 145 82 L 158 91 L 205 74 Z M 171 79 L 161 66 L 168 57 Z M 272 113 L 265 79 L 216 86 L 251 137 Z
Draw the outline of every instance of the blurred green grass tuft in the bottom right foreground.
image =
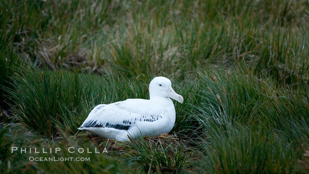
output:
M 207 134 L 207 133 L 206 133 Z M 300 149 L 277 134 L 246 128 L 207 134 L 204 173 L 295 173 Z M 207 144 L 210 145 L 207 145 Z

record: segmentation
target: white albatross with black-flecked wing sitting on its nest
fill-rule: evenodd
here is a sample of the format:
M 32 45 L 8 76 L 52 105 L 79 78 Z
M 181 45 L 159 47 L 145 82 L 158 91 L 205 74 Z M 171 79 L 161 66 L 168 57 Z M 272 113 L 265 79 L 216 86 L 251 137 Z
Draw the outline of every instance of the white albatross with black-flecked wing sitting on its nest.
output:
M 103 138 L 129 140 L 141 136 L 168 133 L 174 126 L 176 112 L 172 99 L 184 98 L 171 87 L 165 77 L 156 77 L 149 84 L 150 100 L 127 99 L 112 104 L 99 104 L 88 115 L 80 130 Z

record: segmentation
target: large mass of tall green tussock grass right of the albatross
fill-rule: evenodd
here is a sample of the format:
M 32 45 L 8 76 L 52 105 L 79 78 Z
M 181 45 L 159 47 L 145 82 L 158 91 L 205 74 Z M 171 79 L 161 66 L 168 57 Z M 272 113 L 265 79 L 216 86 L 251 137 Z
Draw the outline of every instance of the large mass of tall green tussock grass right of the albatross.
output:
M 239 74 L 214 75 L 202 75 L 196 95 L 203 100 L 192 109 L 204 132 L 201 172 L 299 172 L 301 147 L 308 146 L 308 86 L 278 92 Z

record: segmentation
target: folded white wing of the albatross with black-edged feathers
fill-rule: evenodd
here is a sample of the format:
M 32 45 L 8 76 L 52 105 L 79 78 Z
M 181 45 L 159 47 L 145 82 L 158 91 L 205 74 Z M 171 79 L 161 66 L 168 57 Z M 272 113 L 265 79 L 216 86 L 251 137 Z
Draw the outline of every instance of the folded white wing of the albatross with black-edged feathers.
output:
M 128 99 L 112 104 L 100 104 L 88 115 L 78 129 L 85 129 L 104 138 L 120 137 L 141 122 L 154 122 L 160 115 L 149 115 L 149 100 Z M 144 109 L 141 109 L 143 108 Z M 154 109 L 157 110 L 157 109 Z

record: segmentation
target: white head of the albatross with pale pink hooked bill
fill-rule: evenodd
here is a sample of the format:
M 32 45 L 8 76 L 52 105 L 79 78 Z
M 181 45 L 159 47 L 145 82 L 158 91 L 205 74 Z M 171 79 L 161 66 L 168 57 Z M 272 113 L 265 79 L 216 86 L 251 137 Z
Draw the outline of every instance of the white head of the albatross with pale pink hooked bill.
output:
M 170 79 L 167 79 L 165 77 L 155 77 L 151 80 L 149 84 L 150 99 L 152 96 L 165 98 L 170 97 L 180 103 L 183 103 L 184 98 L 181 95 L 177 94 L 171 86 L 172 83 Z

